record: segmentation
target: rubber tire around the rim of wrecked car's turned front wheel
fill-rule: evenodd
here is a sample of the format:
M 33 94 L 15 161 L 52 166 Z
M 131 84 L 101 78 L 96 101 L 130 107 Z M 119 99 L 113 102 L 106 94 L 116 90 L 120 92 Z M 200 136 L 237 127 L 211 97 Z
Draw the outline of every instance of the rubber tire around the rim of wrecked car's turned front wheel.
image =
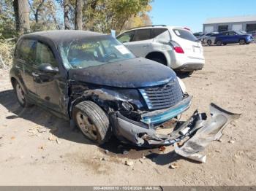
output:
M 88 117 L 91 121 L 90 123 L 94 125 L 97 134 L 95 133 L 96 139 L 91 139 L 90 136 L 84 133 L 80 124 L 78 124 L 77 115 L 82 113 L 84 116 Z M 75 105 L 72 112 L 72 119 L 75 120 L 75 124 L 80 128 L 81 132 L 87 139 L 94 141 L 97 144 L 104 144 L 110 138 L 110 122 L 108 120 L 107 114 L 94 102 L 92 101 L 82 101 Z

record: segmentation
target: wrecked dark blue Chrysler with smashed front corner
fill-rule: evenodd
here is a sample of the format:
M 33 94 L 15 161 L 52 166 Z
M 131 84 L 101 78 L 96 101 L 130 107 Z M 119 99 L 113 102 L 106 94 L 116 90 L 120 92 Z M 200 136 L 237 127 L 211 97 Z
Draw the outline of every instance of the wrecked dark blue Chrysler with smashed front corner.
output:
M 167 66 L 135 58 L 109 35 L 67 30 L 21 36 L 10 81 L 20 106 L 37 104 L 74 121 L 98 144 L 112 134 L 141 147 L 186 137 L 156 133 L 189 109 L 192 97 L 181 79 Z

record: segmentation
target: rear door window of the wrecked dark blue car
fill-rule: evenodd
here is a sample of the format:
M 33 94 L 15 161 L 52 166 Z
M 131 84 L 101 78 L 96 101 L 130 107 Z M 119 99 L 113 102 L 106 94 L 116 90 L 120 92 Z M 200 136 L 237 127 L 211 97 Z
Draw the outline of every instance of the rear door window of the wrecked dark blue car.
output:
M 18 50 L 20 51 L 20 59 L 26 63 L 34 63 L 34 52 L 37 42 L 32 39 L 23 39 Z

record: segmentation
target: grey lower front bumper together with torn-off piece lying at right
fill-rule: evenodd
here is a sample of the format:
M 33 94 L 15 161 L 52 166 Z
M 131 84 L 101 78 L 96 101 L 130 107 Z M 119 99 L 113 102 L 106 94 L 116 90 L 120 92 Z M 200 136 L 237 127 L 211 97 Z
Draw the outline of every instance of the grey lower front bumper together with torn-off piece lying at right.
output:
M 200 114 L 195 111 L 189 120 L 178 127 L 176 126 L 172 132 L 170 130 L 167 134 L 157 133 L 157 127 L 147 125 L 144 122 L 129 120 L 119 112 L 113 115 L 111 119 L 118 139 L 139 147 L 176 144 L 188 137 L 187 144 L 184 144 L 184 147 L 178 151 L 179 155 L 187 157 L 201 151 L 210 141 L 219 139 L 222 136 L 223 128 L 231 120 L 239 117 L 239 114 L 227 112 L 214 104 L 211 104 L 210 112 L 211 118 L 206 120 L 206 113 Z

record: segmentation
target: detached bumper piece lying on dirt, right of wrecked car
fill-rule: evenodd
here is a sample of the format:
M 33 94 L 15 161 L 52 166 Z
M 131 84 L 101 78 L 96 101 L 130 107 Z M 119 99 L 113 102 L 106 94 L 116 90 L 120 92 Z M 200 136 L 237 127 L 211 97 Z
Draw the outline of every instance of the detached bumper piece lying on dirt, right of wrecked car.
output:
M 178 155 L 200 163 L 206 163 L 206 155 L 202 155 L 199 152 L 202 152 L 211 141 L 219 140 L 222 137 L 222 130 L 227 124 L 238 119 L 241 115 L 227 112 L 215 104 L 210 105 L 210 113 L 211 118 L 209 120 L 206 113 L 200 114 L 197 110 L 189 118 L 188 124 L 195 125 L 187 125 L 187 127 L 192 128 L 195 134 L 182 147 L 178 147 L 177 143 L 174 144 L 175 152 Z M 233 141 L 230 141 L 230 143 L 233 143 Z

